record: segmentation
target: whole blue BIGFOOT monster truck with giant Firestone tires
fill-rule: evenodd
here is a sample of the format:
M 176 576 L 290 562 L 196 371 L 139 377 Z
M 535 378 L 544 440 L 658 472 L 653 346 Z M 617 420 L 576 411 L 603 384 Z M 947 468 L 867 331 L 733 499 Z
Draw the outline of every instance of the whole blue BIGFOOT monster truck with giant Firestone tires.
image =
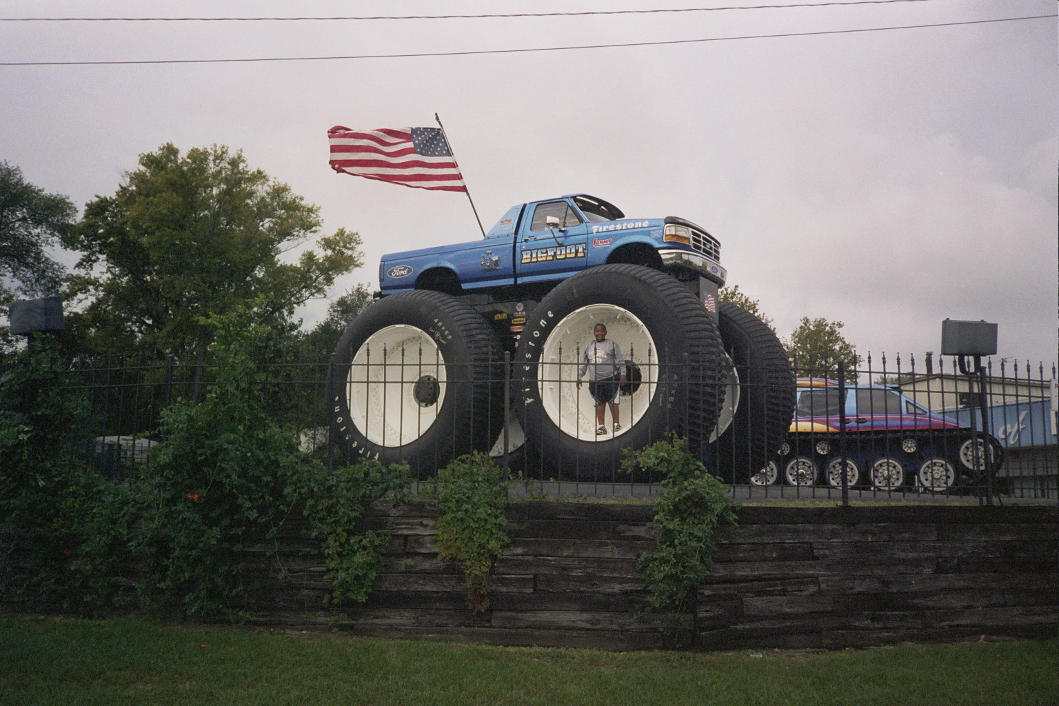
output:
M 622 479 L 622 450 L 675 431 L 747 482 L 783 441 L 794 381 L 772 330 L 718 303 L 719 253 L 687 220 L 577 194 L 513 206 L 473 242 L 384 255 L 379 301 L 336 350 L 335 438 L 421 473 L 506 442 L 560 477 Z M 627 361 L 622 429 L 602 436 L 576 385 L 600 323 Z

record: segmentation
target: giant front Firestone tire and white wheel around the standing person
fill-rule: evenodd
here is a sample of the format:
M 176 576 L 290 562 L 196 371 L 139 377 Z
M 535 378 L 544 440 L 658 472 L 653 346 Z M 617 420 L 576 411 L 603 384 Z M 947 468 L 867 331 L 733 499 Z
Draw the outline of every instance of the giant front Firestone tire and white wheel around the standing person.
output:
M 618 396 L 622 429 L 613 431 L 608 409 L 600 435 L 589 386 L 577 386 L 597 323 L 641 376 Z M 586 270 L 541 301 L 519 339 L 513 379 L 522 428 L 560 477 L 629 481 L 615 472 L 622 451 L 669 431 L 699 453 L 717 418 L 722 358 L 716 324 L 684 285 L 639 265 Z

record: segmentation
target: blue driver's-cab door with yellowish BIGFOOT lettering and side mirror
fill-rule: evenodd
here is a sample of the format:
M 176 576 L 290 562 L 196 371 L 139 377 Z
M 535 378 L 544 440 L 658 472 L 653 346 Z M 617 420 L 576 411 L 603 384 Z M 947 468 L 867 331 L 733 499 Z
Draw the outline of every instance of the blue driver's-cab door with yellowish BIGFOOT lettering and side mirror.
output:
M 588 224 L 563 200 L 534 206 L 518 236 L 516 268 L 520 283 L 555 279 L 584 270 L 588 261 Z M 559 220 L 549 229 L 548 218 Z

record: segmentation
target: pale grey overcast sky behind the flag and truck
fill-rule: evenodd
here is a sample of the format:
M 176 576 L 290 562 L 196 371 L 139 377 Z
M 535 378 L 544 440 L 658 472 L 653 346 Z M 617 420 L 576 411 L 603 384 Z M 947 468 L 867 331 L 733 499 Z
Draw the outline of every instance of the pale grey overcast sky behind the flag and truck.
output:
M 811 1 L 811 0 L 810 0 Z M 62 2 L 0 18 L 347 17 L 732 7 L 733 0 Z M 157 61 L 627 46 L 299 61 L 0 66 L 0 160 L 80 209 L 173 142 L 252 167 L 380 255 L 481 237 L 467 198 L 337 175 L 326 130 L 445 125 L 488 230 L 587 193 L 682 216 L 780 336 L 845 323 L 863 355 L 939 351 L 941 321 L 999 325 L 999 357 L 1057 358 L 1054 0 L 475 19 L 0 22 L 0 62 Z M 879 32 L 839 31 L 1044 19 Z M 812 34 L 829 33 L 829 34 Z M 759 35 L 800 35 L 741 38 Z M 71 264 L 75 256 L 65 255 Z M 306 324 L 326 301 L 310 302 Z M 892 364 L 892 363 L 891 363 Z M 907 365 L 907 363 L 905 363 Z

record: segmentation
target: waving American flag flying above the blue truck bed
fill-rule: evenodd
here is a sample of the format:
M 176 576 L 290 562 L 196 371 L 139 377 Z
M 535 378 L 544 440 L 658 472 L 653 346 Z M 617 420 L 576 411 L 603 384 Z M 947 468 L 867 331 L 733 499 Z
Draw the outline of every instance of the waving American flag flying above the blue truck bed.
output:
M 466 192 L 445 134 L 436 127 L 327 130 L 330 165 L 338 173 L 413 188 Z

